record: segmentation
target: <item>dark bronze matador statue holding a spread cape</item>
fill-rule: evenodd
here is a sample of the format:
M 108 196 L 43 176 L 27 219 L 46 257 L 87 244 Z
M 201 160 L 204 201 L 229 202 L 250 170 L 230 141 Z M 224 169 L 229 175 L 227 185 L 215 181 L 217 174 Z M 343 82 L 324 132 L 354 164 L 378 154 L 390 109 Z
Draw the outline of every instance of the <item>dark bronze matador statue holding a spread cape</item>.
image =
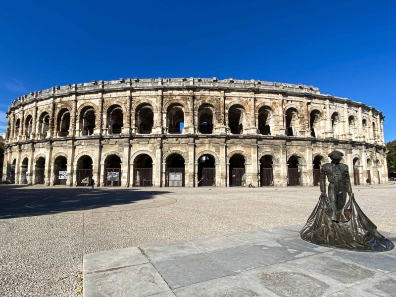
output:
M 357 205 L 348 166 L 340 163 L 344 154 L 334 150 L 328 156 L 331 163 L 322 165 L 320 170 L 322 194 L 300 231 L 301 239 L 319 246 L 356 251 L 386 251 L 394 248 L 394 244 L 378 233 L 377 227 Z M 327 194 L 326 180 L 329 183 Z

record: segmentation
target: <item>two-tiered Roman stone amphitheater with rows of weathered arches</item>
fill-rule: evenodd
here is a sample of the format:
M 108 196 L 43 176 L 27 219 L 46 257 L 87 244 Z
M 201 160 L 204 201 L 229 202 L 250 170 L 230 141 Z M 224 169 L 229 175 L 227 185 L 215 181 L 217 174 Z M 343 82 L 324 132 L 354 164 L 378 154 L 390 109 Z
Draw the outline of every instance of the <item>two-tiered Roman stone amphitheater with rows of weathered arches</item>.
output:
M 312 86 L 201 78 L 92 81 L 14 100 L 2 181 L 48 186 L 316 186 L 344 152 L 387 183 L 382 113 Z

